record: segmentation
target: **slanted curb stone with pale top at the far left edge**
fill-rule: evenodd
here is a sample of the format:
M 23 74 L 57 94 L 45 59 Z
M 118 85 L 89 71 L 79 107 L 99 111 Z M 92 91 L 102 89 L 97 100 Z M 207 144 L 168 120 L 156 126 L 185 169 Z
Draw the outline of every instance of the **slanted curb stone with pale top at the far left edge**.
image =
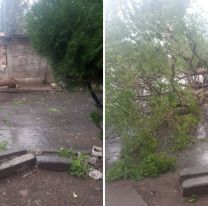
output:
M 35 165 L 35 156 L 25 154 L 8 160 L 0 165 L 0 178 L 13 175 L 32 168 Z

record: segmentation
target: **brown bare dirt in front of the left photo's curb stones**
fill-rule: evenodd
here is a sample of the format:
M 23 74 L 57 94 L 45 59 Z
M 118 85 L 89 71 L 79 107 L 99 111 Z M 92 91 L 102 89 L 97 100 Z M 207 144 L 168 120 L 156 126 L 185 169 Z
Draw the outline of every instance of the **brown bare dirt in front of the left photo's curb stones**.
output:
M 1 206 L 101 206 L 102 182 L 34 169 L 0 180 L 0 199 Z

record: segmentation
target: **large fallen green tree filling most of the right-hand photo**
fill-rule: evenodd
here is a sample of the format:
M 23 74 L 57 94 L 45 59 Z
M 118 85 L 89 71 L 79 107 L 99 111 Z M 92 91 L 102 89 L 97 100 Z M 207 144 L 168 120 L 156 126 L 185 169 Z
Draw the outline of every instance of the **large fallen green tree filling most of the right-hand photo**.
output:
M 202 114 L 193 86 L 208 71 L 206 22 L 188 12 L 188 0 L 108 4 L 106 125 L 123 142 L 108 178 L 156 176 L 193 143 Z

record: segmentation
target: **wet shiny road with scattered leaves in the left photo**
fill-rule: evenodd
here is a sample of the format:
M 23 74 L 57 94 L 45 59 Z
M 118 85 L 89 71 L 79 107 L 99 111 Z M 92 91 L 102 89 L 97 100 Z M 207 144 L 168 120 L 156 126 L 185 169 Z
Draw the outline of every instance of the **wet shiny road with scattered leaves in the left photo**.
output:
M 8 149 L 101 146 L 94 110 L 86 92 L 0 93 L 0 141 Z

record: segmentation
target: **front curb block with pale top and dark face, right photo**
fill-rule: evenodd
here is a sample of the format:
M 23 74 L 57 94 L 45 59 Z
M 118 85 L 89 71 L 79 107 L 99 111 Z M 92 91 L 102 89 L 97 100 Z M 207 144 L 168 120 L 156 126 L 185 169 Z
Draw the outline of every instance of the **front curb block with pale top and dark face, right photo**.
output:
M 184 197 L 208 193 L 208 176 L 195 177 L 182 182 L 182 193 Z

